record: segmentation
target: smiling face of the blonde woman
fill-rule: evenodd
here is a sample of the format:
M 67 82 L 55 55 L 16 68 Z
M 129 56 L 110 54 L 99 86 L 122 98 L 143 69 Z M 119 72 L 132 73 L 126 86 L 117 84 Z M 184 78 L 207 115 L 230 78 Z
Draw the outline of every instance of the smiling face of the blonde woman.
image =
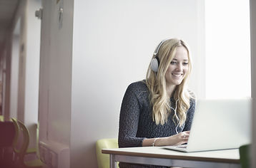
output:
M 164 75 L 166 80 L 166 86 L 175 87 L 182 83 L 182 80 L 187 75 L 189 70 L 189 58 L 187 49 L 184 46 L 178 46 L 176 53 L 171 63 L 169 64 L 167 71 Z

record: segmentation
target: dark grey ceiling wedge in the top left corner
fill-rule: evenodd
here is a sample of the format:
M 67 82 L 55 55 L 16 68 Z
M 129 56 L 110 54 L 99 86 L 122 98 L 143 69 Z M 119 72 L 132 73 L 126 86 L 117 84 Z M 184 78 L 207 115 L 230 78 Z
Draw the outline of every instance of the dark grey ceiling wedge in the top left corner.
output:
M 0 48 L 3 45 L 6 32 L 14 19 L 20 0 L 0 0 Z

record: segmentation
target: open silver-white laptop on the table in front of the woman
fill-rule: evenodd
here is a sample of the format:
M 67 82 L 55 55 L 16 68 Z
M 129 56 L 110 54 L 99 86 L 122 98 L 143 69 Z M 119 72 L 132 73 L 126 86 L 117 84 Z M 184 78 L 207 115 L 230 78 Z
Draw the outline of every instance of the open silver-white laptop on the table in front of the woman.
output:
M 251 139 L 252 100 L 197 100 L 187 145 L 166 146 L 182 152 L 235 149 Z

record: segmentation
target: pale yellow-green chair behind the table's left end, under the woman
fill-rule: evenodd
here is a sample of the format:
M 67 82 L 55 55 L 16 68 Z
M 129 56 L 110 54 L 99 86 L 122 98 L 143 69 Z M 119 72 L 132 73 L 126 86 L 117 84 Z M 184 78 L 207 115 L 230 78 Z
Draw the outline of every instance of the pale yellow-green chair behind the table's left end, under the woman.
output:
M 109 149 L 109 148 L 118 148 L 117 139 L 97 140 L 96 154 L 97 154 L 98 168 L 109 168 L 109 154 L 102 154 L 102 149 Z

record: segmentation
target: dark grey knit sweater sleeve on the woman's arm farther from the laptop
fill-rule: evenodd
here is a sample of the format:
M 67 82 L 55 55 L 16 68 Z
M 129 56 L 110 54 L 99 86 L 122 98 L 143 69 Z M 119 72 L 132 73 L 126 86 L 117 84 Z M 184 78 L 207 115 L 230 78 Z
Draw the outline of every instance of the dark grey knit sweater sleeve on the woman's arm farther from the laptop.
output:
M 144 140 L 144 137 L 136 137 L 141 108 L 136 89 L 136 85 L 129 85 L 122 100 L 119 116 L 119 147 L 141 147 Z

